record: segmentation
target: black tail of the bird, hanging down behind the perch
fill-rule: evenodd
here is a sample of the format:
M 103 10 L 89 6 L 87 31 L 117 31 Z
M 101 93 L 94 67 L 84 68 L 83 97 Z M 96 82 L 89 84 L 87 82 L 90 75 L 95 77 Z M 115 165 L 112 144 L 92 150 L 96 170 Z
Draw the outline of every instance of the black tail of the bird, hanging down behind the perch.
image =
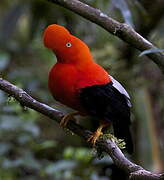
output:
M 114 135 L 118 139 L 123 139 L 126 143 L 126 150 L 129 154 L 133 153 L 133 141 L 130 132 L 130 123 L 126 123 L 123 119 L 113 122 Z

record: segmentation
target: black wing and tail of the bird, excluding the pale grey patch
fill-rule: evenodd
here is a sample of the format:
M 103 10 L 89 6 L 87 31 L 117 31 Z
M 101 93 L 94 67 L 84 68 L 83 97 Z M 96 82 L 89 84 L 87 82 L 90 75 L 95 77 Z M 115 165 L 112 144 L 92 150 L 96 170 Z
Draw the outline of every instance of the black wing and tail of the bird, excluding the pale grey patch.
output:
M 79 99 L 90 115 L 112 122 L 115 136 L 124 139 L 127 150 L 131 152 L 130 107 L 125 95 L 121 94 L 110 82 L 81 89 Z

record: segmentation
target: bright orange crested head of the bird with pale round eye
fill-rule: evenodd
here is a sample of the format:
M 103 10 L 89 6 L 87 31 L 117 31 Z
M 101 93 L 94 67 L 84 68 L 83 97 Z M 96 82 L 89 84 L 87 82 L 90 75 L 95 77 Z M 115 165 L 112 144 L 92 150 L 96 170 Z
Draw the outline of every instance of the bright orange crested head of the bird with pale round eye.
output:
M 51 49 L 57 56 L 57 60 L 62 63 L 78 63 L 81 58 L 91 59 L 92 56 L 88 46 L 70 34 L 63 26 L 49 25 L 43 35 L 45 47 Z

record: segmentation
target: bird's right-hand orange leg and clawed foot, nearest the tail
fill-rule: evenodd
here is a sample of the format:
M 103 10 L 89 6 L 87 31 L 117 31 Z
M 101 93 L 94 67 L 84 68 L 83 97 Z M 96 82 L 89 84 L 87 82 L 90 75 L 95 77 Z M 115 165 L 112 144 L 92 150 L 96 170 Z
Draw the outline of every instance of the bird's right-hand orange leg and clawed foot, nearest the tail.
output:
M 106 126 L 107 126 L 106 123 L 100 124 L 100 126 L 97 128 L 97 130 L 88 138 L 87 141 L 90 142 L 90 143 L 93 145 L 93 147 L 95 146 L 95 143 L 96 143 L 97 139 L 98 139 L 101 135 L 103 135 L 102 129 L 103 129 L 104 127 L 106 127 Z

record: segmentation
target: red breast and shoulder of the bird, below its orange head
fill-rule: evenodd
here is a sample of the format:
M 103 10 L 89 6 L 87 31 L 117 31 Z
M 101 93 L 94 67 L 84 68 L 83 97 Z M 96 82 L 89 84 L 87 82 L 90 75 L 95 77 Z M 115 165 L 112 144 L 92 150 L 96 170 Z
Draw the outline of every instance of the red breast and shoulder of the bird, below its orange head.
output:
M 93 69 L 94 67 L 88 66 L 85 71 L 80 71 L 71 64 L 54 65 L 49 73 L 48 83 L 53 97 L 62 104 L 82 111 L 79 100 L 80 89 L 109 82 L 109 76 L 104 70 L 99 69 L 95 72 Z

